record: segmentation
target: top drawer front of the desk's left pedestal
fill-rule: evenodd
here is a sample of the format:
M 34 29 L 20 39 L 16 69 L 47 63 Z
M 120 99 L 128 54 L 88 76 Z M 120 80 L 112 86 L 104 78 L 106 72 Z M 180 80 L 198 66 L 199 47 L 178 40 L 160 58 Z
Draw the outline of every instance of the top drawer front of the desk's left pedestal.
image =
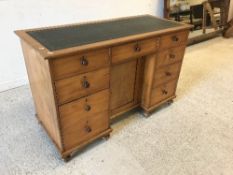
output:
M 108 49 L 87 52 L 52 60 L 55 79 L 106 67 L 110 63 Z

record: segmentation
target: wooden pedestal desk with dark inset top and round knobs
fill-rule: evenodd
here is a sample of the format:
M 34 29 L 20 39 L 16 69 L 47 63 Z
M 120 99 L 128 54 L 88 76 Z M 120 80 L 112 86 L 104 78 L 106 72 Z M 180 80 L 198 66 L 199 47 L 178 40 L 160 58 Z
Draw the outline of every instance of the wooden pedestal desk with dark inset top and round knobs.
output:
M 38 119 L 64 159 L 109 137 L 114 117 L 175 98 L 189 29 L 145 15 L 16 31 Z

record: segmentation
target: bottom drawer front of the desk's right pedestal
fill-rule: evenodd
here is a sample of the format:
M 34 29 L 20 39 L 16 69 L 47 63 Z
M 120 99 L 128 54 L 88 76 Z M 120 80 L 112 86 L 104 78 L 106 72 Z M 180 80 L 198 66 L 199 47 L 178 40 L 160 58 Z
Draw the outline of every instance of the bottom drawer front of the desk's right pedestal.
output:
M 150 106 L 156 105 L 157 103 L 175 95 L 176 83 L 177 80 L 173 80 L 153 89 L 151 93 Z

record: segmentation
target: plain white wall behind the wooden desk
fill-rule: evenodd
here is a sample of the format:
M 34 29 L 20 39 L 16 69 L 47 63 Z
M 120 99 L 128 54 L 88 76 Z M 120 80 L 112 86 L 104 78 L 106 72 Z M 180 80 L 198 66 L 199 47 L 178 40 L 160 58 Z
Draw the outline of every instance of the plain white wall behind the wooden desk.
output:
M 162 16 L 161 0 L 0 0 L 0 92 L 27 84 L 16 29 L 139 14 Z

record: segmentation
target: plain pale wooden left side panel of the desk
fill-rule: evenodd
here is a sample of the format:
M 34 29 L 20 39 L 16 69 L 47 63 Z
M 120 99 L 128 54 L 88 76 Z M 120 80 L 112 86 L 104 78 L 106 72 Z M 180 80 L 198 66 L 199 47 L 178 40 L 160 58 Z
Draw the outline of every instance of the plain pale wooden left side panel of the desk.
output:
M 34 99 L 38 119 L 62 152 L 59 120 L 54 96 L 53 81 L 48 60 L 26 42 L 21 40 L 28 78 Z

